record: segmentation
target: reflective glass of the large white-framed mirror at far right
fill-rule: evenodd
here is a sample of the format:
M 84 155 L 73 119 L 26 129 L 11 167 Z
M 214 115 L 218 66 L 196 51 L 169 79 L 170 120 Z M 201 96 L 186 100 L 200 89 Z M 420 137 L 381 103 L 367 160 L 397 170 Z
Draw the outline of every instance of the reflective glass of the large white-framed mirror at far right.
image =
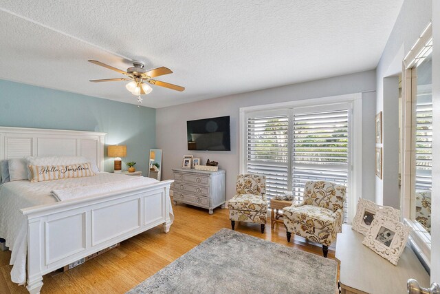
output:
M 427 46 L 428 47 L 428 46 Z M 430 47 L 429 47 L 430 48 Z M 412 68 L 412 89 L 415 103 L 412 104 L 412 148 L 415 158 L 412 171 L 415 174 L 410 205 L 411 219 L 417 221 L 427 232 L 431 231 L 431 187 L 432 187 L 432 54 L 428 50 Z M 415 160 L 414 160 L 415 159 Z

